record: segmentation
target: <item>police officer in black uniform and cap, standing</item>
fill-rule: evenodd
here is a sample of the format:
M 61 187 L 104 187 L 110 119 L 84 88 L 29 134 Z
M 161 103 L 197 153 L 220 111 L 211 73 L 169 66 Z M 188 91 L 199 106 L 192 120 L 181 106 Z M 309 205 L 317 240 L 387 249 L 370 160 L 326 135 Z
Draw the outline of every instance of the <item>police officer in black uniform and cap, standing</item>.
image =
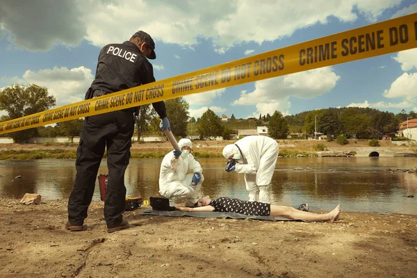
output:
M 86 98 L 99 97 L 155 81 L 152 64 L 155 43 L 144 31 L 136 32 L 122 44 L 108 44 L 100 51 L 95 80 Z M 161 117 L 161 129 L 170 129 L 165 104 L 158 101 L 154 109 Z M 134 119 L 131 108 L 85 117 L 76 152 L 76 178 L 68 201 L 65 229 L 82 231 L 88 206 L 95 189 L 97 172 L 107 147 L 108 183 L 104 202 L 104 219 L 108 232 L 129 227 L 124 220 L 126 187 L 124 172 L 129 164 Z

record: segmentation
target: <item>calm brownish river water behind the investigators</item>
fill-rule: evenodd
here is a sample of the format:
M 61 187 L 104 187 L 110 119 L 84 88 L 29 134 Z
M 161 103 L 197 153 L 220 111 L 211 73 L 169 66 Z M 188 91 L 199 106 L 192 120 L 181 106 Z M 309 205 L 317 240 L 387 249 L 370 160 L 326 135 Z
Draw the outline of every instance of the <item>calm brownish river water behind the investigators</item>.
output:
M 224 172 L 225 159 L 197 159 L 204 169 L 204 194 L 247 199 L 243 174 Z M 158 196 L 161 161 L 131 159 L 125 175 L 128 197 Z M 311 211 L 340 203 L 344 211 L 417 215 L 417 174 L 401 171 L 416 166 L 417 158 L 411 157 L 278 158 L 271 200 L 288 206 L 307 202 Z M 107 172 L 103 160 L 99 173 Z M 74 160 L 0 161 L 0 197 L 38 193 L 42 200 L 67 199 L 75 174 Z M 98 183 L 93 199 L 99 200 Z

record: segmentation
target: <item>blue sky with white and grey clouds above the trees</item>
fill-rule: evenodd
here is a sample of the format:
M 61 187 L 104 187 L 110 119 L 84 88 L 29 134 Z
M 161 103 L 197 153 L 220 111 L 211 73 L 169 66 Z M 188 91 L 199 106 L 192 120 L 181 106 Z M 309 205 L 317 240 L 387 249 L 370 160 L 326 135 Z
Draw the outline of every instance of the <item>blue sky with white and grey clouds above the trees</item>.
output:
M 1 0 L 0 88 L 48 88 L 83 100 L 108 43 L 143 30 L 156 80 L 417 13 L 417 0 Z M 417 112 L 417 49 L 186 97 L 190 116 L 294 115 L 360 106 Z M 4 115 L 4 111 L 0 112 Z

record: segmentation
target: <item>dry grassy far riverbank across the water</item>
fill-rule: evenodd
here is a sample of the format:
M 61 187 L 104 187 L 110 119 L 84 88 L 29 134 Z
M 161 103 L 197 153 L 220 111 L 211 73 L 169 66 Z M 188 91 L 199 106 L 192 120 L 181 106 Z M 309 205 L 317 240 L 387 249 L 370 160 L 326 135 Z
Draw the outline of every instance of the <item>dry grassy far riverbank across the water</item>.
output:
M 194 140 L 195 157 L 222 157 L 225 145 L 236 140 Z M 277 140 L 279 156 L 369 156 L 377 152 L 379 156 L 407 156 L 417 153 L 417 146 L 395 145 L 391 141 L 379 141 L 379 147 L 370 147 L 369 140 L 349 140 L 347 145 L 338 145 L 336 141 L 325 140 Z M 321 146 L 319 146 L 321 145 Z M 43 144 L 1 144 L 0 160 L 26 159 L 75 159 L 76 143 Z M 172 150 L 170 142 L 134 142 L 131 147 L 132 158 L 163 158 Z

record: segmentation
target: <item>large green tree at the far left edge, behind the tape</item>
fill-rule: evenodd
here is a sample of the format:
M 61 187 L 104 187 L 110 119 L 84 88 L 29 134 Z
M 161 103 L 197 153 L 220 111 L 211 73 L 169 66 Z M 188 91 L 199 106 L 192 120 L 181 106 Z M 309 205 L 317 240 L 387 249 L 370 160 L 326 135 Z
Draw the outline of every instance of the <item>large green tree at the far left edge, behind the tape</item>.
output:
M 47 88 L 32 84 L 13 84 L 0 91 L 0 110 L 7 111 L 11 120 L 24 117 L 55 106 L 55 97 L 48 95 Z M 38 129 L 25 129 L 10 133 L 15 142 L 25 142 L 38 134 Z

